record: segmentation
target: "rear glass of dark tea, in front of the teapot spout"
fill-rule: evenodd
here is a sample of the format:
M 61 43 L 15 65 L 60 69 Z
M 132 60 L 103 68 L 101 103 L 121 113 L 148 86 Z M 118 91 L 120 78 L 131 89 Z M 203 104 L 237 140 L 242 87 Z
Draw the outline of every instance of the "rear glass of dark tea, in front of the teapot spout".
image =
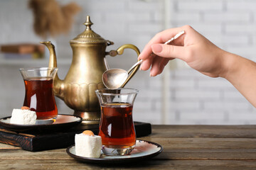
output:
M 19 69 L 26 89 L 23 106 L 35 111 L 37 120 L 53 120 L 58 116 L 53 94 L 53 78 L 57 70 L 50 67 Z

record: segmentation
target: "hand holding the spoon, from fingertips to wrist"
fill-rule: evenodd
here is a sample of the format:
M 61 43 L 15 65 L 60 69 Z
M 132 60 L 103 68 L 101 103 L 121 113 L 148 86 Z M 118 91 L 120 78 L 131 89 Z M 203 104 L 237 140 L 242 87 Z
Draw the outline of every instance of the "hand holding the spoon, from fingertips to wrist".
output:
M 185 30 L 185 34 L 171 42 L 171 45 L 164 45 L 164 42 L 173 38 L 181 30 Z M 151 55 L 152 52 L 154 55 Z M 142 70 L 151 67 L 150 76 L 152 77 L 161 74 L 169 60 L 175 58 L 183 60 L 198 72 L 210 77 L 219 77 L 225 72 L 223 57 L 221 57 L 224 52 L 191 26 L 183 26 L 157 33 L 144 47 L 139 59 L 144 60 L 141 64 Z

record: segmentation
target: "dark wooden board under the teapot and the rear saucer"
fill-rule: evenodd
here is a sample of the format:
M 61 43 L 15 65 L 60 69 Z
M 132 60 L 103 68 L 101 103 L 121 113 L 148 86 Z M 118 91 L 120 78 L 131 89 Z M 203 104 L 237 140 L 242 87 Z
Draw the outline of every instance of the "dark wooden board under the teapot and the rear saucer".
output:
M 151 124 L 134 122 L 137 137 L 151 134 Z M 65 132 L 14 132 L 0 126 L 0 142 L 8 145 L 21 147 L 28 151 L 42 151 L 48 149 L 59 149 L 75 144 L 75 134 L 83 130 L 92 130 L 98 133 L 98 128 L 89 128 L 80 124 Z

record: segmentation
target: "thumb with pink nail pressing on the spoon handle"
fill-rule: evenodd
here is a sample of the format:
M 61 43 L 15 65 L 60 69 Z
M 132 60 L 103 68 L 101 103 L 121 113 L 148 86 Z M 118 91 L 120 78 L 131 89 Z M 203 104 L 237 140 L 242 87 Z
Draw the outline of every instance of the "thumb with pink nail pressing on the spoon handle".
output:
M 159 57 L 166 58 L 178 58 L 181 60 L 185 60 L 186 58 L 186 50 L 183 46 L 175 46 L 175 45 L 164 45 L 164 44 L 154 44 L 151 45 L 151 49 L 155 55 Z

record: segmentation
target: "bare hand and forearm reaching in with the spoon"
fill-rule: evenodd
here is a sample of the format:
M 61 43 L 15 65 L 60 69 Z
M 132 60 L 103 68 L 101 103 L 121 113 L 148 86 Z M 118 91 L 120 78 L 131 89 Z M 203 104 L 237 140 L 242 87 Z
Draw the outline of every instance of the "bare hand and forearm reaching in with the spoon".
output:
M 164 42 L 185 30 L 171 45 Z M 154 52 L 155 55 L 151 55 Z M 256 63 L 220 49 L 191 26 L 171 28 L 157 33 L 139 55 L 141 70 L 150 69 L 150 76 L 163 72 L 170 60 L 186 62 L 208 77 L 223 77 L 256 107 Z

